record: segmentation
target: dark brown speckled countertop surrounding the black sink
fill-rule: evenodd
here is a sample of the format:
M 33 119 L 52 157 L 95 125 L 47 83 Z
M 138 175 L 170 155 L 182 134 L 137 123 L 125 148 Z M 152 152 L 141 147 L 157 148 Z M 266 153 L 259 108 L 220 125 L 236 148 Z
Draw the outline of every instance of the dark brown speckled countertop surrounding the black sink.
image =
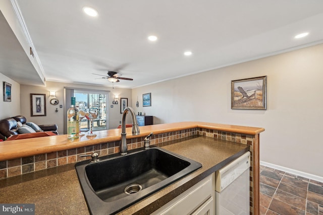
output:
M 119 214 L 150 213 L 249 150 L 248 145 L 201 136 L 163 148 L 202 168 Z M 35 203 L 36 214 L 89 214 L 74 164 L 2 179 L 0 193 L 0 203 Z

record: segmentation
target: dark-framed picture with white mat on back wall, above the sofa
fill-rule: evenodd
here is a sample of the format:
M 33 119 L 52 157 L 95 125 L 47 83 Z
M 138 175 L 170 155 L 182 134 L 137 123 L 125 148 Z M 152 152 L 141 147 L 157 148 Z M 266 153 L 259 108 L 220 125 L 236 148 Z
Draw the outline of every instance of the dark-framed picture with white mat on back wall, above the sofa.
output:
M 30 116 L 46 116 L 46 94 L 30 93 Z

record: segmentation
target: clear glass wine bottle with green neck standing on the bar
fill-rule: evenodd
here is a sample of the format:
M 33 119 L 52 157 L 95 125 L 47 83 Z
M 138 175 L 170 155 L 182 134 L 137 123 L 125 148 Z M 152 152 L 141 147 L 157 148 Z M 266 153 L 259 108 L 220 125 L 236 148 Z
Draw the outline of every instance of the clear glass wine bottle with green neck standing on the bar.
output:
M 67 111 L 67 138 L 77 139 L 80 133 L 79 110 L 75 107 L 75 97 L 71 97 L 71 108 Z

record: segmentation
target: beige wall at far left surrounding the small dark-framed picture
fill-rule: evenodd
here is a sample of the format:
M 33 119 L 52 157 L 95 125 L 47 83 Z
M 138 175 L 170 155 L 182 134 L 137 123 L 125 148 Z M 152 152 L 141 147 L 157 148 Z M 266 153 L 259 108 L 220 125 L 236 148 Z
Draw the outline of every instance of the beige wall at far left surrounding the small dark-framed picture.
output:
M 1 71 L 0 71 L 1 72 Z M 11 102 L 4 101 L 4 85 L 6 81 L 11 84 Z M 20 114 L 20 84 L 0 73 L 0 119 L 14 117 Z

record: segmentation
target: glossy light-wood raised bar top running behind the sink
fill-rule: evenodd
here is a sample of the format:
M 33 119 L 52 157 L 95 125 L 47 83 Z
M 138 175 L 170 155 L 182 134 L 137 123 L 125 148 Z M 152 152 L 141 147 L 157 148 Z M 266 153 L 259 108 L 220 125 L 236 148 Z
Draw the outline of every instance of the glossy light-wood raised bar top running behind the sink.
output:
M 216 123 L 205 123 L 205 122 L 179 122 L 179 123 L 168 123 L 158 124 L 140 127 L 140 135 L 132 136 L 131 128 L 127 128 L 127 139 L 145 137 L 150 132 L 154 135 L 173 132 L 183 129 L 192 128 L 205 128 L 221 130 L 225 132 L 240 133 L 256 135 L 264 131 L 263 128 L 237 126 L 237 125 L 225 125 Z M 48 153 L 52 151 L 67 150 L 76 147 L 89 146 L 98 143 L 119 141 L 121 140 L 121 129 L 102 130 L 94 132 L 97 137 L 94 139 L 88 139 L 85 136 L 75 140 L 68 140 L 67 135 L 38 137 L 23 140 L 12 140 L 4 141 L 0 143 L 0 161 L 9 160 L 19 157 L 26 157 L 35 154 Z

